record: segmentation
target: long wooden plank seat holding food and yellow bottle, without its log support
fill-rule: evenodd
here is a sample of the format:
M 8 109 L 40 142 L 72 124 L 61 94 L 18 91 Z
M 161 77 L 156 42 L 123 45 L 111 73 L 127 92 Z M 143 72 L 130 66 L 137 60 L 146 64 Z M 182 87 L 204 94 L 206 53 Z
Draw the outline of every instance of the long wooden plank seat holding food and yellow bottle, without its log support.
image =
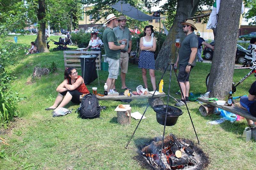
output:
M 162 96 L 165 96 L 166 94 L 160 93 L 158 95 L 154 95 L 153 98 L 160 98 Z M 118 96 L 118 95 L 107 95 L 107 96 L 98 96 L 97 98 L 98 100 L 125 100 L 125 99 L 147 99 L 147 98 L 151 98 L 152 94 L 143 94 L 143 95 L 132 95 L 132 97 L 128 97 L 128 96 Z M 82 95 L 80 96 L 80 101 L 82 101 Z

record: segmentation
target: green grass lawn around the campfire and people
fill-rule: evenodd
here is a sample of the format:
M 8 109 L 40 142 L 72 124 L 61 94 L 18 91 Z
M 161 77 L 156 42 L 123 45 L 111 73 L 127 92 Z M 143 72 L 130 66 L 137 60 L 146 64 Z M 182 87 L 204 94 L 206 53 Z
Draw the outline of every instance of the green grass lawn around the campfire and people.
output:
M 18 42 L 30 45 L 36 36 L 19 36 Z M 52 38 L 52 37 L 51 37 Z M 58 40 L 58 36 L 54 36 Z M 13 37 L 9 37 L 13 41 Z M 50 49 L 54 48 L 50 44 Z M 72 47 L 72 46 L 71 46 Z M 76 48 L 73 46 L 73 48 Z M 128 149 L 125 145 L 134 131 L 138 120 L 132 119 L 131 125 L 122 126 L 117 123 L 114 109 L 120 101 L 100 101 L 100 105 L 107 106 L 101 111 L 98 119 L 81 119 L 75 113 L 77 104 L 69 103 L 66 107 L 73 113 L 63 117 L 52 117 L 51 111 L 44 108 L 53 104 L 57 95 L 56 87 L 63 81 L 64 61 L 63 52 L 39 53 L 23 56 L 21 51 L 13 60 L 17 61 L 10 70 L 18 79 L 12 84 L 13 89 L 19 92 L 22 100 L 18 103 L 20 119 L 12 124 L 8 133 L 1 135 L 6 138 L 10 146 L 0 144 L 0 169 L 146 169 L 144 160 L 138 160 L 139 150 L 145 144 L 163 134 L 164 126 L 156 122 L 156 115 L 152 108 L 148 108 L 145 116 L 137 129 Z M 58 63 L 58 71 L 41 78 L 32 78 L 33 68 L 36 64 Z M 205 78 L 211 65 L 197 63 L 190 75 L 190 92 L 206 92 Z M 235 70 L 234 81 L 237 82 L 249 70 Z M 78 70 L 81 74 L 81 70 Z M 156 81 L 162 76 L 156 71 Z M 99 71 L 100 86 L 98 81 L 87 85 L 92 92 L 93 86 L 98 86 L 98 92 L 103 92 L 108 71 Z M 143 85 L 141 71 L 137 65 L 129 64 L 126 84 L 133 90 L 138 85 Z M 253 76 L 246 79 L 237 87 L 233 96 L 248 94 L 248 89 Z M 164 76 L 164 92 L 167 93 L 169 72 Z M 148 84 L 150 78 L 148 75 Z M 117 90 L 121 91 L 121 80 L 116 82 Z M 149 90 L 152 86 L 149 85 Z M 175 75 L 172 74 L 171 95 L 179 99 L 175 92 L 179 90 Z M 166 101 L 166 98 L 164 99 Z M 171 105 L 175 102 L 171 100 Z M 129 103 L 132 112 L 143 113 L 147 100 L 133 100 Z M 218 119 L 219 116 L 203 117 L 198 111 L 198 102 L 188 103 L 200 144 L 207 154 L 210 164 L 207 169 L 255 169 L 256 143 L 244 142 L 241 138 L 245 120 L 241 122 L 225 121 L 220 125 L 207 125 L 206 122 Z M 177 138 L 187 138 L 197 142 L 186 107 L 182 107 L 183 115 L 173 127 L 166 127 L 165 132 L 173 133 Z

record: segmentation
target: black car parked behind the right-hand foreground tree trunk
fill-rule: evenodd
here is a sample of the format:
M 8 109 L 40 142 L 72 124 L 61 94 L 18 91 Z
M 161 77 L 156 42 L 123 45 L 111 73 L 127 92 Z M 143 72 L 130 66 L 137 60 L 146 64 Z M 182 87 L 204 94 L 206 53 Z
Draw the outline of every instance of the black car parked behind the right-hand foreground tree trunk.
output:
M 210 43 L 212 46 L 214 46 L 214 42 Z M 244 56 L 246 54 L 246 49 L 239 44 L 236 44 L 236 63 L 243 64 L 245 59 Z M 212 60 L 213 57 L 213 51 L 211 48 L 204 48 L 203 55 L 206 60 Z

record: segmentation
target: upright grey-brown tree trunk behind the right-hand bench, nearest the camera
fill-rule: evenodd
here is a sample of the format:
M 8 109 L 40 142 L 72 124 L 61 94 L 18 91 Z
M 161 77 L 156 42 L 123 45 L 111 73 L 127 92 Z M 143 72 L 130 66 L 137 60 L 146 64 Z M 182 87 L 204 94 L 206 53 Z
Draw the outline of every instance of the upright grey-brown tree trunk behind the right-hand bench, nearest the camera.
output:
M 242 0 L 220 2 L 214 57 L 209 77 L 210 97 L 223 99 L 232 89 Z

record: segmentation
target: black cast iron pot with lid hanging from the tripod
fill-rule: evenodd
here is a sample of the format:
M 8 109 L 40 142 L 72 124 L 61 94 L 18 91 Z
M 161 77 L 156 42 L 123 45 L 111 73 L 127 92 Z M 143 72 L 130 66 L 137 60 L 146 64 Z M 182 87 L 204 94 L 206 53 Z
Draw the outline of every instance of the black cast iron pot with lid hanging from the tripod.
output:
M 164 125 L 166 108 L 167 105 L 156 105 L 153 107 L 154 111 L 156 112 L 156 121 L 161 125 Z M 179 108 L 168 105 L 165 125 L 175 125 L 180 115 L 182 115 L 182 111 Z

